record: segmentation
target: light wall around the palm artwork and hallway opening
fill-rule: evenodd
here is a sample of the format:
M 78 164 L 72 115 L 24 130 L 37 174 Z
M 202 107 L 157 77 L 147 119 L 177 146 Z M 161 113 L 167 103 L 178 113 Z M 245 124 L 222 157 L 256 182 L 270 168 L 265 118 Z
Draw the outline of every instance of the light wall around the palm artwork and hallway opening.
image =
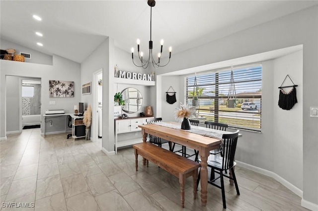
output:
M 80 65 L 69 59 L 53 55 L 53 65 L 26 63 L 18 61 L 0 60 L 0 98 L 1 109 L 0 121 L 0 138 L 5 138 L 5 121 L 6 121 L 6 75 L 21 77 L 38 77 L 41 78 L 41 115 L 45 114 L 47 109 L 64 109 L 66 113 L 74 112 L 74 105 L 78 105 L 80 100 Z M 74 81 L 74 98 L 49 98 L 49 80 Z M 47 89 L 45 88 L 47 87 Z M 49 101 L 55 101 L 56 105 L 49 105 Z M 18 105 L 17 105 L 18 106 Z M 19 119 L 15 120 L 18 124 Z M 65 130 L 65 118 L 55 118 L 53 127 L 45 126 L 45 132 L 55 132 Z M 3 126 L 4 125 L 4 126 Z M 43 123 L 41 124 L 43 132 Z

